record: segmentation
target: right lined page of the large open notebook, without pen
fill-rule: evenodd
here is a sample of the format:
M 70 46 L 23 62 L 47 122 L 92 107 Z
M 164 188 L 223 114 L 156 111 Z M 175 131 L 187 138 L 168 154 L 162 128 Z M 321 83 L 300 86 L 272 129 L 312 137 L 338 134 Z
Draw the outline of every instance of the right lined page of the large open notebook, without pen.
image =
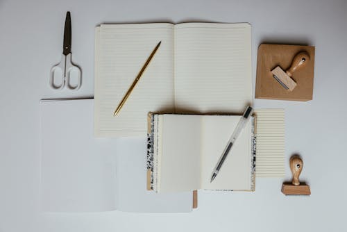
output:
M 176 112 L 243 113 L 251 69 L 250 24 L 175 26 Z

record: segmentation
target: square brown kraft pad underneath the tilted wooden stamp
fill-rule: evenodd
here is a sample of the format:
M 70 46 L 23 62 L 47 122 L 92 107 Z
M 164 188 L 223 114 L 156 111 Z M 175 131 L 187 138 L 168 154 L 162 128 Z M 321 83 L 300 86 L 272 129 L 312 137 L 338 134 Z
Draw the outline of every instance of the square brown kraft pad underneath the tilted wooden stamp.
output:
M 312 100 L 314 49 L 314 47 L 310 46 L 260 44 L 257 55 L 255 98 L 291 101 Z M 296 88 L 291 92 L 283 91 L 283 87 L 273 78 L 271 70 L 277 66 L 287 69 L 291 66 L 294 56 L 301 51 L 306 51 L 310 56 L 310 60 L 306 63 L 305 67 L 294 72 L 292 79 L 297 84 Z

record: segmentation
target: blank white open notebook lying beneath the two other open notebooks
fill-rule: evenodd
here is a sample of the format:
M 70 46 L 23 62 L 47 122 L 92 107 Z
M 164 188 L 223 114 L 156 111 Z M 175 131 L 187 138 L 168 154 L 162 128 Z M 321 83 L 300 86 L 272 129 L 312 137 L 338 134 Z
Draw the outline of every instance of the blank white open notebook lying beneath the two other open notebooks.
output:
M 42 210 L 191 211 L 192 192 L 146 191 L 145 138 L 94 138 L 93 102 L 40 102 Z

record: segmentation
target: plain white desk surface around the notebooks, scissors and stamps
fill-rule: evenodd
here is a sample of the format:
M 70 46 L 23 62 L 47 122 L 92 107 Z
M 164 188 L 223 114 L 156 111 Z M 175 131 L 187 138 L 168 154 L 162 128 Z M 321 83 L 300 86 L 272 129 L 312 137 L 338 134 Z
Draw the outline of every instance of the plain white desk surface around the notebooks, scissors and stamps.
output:
M 76 93 L 48 87 L 71 11 Z M 346 231 L 347 1 L 0 0 L 0 231 Z M 303 156 L 311 197 L 285 197 L 289 179 L 257 179 L 256 191 L 200 192 L 188 214 L 40 213 L 39 100 L 94 92 L 94 27 L 128 22 L 249 22 L 253 90 L 262 42 L 316 47 L 314 99 L 255 99 L 285 108 L 285 156 Z

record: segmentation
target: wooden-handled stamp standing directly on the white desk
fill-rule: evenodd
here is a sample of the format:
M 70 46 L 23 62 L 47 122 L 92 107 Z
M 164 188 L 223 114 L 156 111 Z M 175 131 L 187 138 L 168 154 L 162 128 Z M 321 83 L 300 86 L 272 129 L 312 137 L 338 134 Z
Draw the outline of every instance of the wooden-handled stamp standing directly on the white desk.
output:
M 285 195 L 310 195 L 310 186 L 305 183 L 300 183 L 299 176 L 303 170 L 303 160 L 299 156 L 291 156 L 290 170 L 293 174 L 291 183 L 283 183 L 282 192 Z

